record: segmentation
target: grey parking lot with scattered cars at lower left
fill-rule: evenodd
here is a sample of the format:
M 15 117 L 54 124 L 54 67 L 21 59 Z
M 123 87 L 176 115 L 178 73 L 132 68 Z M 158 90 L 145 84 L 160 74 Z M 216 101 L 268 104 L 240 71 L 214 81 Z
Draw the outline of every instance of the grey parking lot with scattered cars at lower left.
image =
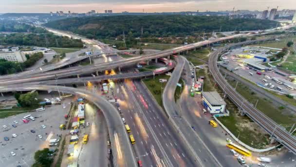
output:
M 51 96 L 48 95 L 48 99 Z M 65 122 L 64 115 L 68 113 L 70 109 L 71 99 L 64 99 L 63 105 L 51 105 L 51 107 L 45 107 L 44 111 L 39 112 L 27 112 L 5 119 L 0 119 L 0 163 L 1 166 L 5 167 L 17 167 L 21 165 L 22 167 L 31 167 L 34 163 L 34 153 L 45 147 L 48 147 L 50 139 L 59 139 L 56 135 L 60 135 L 62 131 L 59 129 L 59 125 Z M 35 121 L 29 121 L 25 124 L 22 118 L 27 115 L 32 115 L 35 117 Z M 17 124 L 14 124 L 17 121 Z M 6 125 L 6 128 L 2 126 Z M 12 125 L 17 125 L 13 127 Z M 41 125 L 45 125 L 42 128 Z M 35 133 L 32 133 L 34 130 Z M 13 137 L 12 134 L 16 134 Z M 38 135 L 41 135 L 40 139 Z M 4 141 L 4 137 L 8 137 L 9 141 Z M 56 148 L 56 147 L 51 147 Z M 16 155 L 12 156 L 11 152 L 15 152 Z

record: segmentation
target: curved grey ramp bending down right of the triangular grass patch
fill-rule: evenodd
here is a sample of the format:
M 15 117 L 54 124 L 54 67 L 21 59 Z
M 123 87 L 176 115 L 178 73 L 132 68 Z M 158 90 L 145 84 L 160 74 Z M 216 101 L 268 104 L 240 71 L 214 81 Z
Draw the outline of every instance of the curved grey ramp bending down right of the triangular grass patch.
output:
M 187 147 L 199 163 L 199 166 L 222 167 L 220 162 L 215 156 L 213 156 L 211 151 L 209 151 L 208 147 L 204 144 L 203 140 L 190 127 L 191 125 L 187 122 L 187 120 L 182 118 L 180 108 L 175 103 L 174 92 L 176 90 L 176 84 L 181 77 L 184 65 L 185 58 L 179 56 L 178 64 L 169 78 L 163 93 L 164 108 L 170 121 L 173 122 L 175 126 L 178 126 L 180 135 L 184 137 Z

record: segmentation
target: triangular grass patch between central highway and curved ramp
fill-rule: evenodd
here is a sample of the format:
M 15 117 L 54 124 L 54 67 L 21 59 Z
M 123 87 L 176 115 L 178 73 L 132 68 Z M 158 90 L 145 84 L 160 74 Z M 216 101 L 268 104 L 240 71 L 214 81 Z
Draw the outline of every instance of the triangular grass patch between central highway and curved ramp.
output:
M 156 75 L 153 78 L 148 78 L 148 79 L 144 79 L 142 80 L 144 82 L 144 84 L 146 84 L 146 86 L 148 87 L 150 93 L 154 96 L 154 99 L 156 100 L 156 102 L 160 105 L 163 106 L 163 100 L 162 100 L 162 94 L 161 94 L 161 84 L 159 82 L 159 79 L 166 79 L 168 80 L 170 76 L 167 76 L 165 74 L 162 75 Z M 166 83 L 163 83 L 163 89 L 165 88 Z M 164 91 L 164 90 L 163 90 Z

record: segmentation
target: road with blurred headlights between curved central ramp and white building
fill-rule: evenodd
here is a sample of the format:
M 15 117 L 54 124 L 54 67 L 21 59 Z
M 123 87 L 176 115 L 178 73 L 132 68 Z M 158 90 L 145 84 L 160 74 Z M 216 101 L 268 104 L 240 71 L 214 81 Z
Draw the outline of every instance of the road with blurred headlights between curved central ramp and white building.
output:
M 234 157 L 229 151 L 229 148 L 225 146 L 225 139 L 227 136 L 225 136 L 225 133 L 222 132 L 224 130 L 220 127 L 213 128 L 211 125 L 209 125 L 208 121 L 211 120 L 211 115 L 203 114 L 201 98 L 193 98 L 190 96 L 190 88 L 192 84 L 190 68 L 192 71 L 194 70 L 186 60 L 184 66 L 185 75 L 182 76 L 182 79 L 185 81 L 186 85 L 178 101 L 178 104 L 181 107 L 182 117 L 188 122 L 188 124 L 195 127 L 195 132 L 197 135 L 201 138 L 203 143 L 209 148 L 209 151 L 211 151 L 211 153 L 217 158 L 223 167 L 239 166 L 236 157 Z M 196 81 L 196 78 L 194 79 Z

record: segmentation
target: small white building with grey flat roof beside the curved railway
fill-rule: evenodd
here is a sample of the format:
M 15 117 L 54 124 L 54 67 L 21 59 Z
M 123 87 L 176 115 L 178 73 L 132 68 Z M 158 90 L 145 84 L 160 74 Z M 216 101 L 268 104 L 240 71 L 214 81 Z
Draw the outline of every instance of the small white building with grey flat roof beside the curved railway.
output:
M 224 112 L 226 103 L 216 91 L 203 92 L 203 106 L 211 114 L 219 114 Z

